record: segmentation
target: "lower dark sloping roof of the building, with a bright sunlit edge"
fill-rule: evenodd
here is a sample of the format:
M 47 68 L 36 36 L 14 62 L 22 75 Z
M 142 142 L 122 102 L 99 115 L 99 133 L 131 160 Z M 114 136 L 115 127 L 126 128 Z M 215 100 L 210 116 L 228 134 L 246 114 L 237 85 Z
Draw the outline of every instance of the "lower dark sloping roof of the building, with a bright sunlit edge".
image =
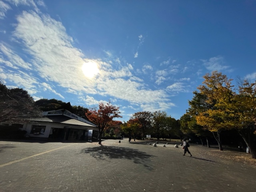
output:
M 78 121 L 76 119 L 70 118 L 64 115 L 52 115 L 43 118 L 32 118 L 29 121 L 37 121 L 37 122 L 52 122 L 52 123 L 60 123 L 60 124 L 68 124 L 74 126 L 88 126 L 88 127 L 96 127 L 92 124 L 88 124 L 82 121 Z

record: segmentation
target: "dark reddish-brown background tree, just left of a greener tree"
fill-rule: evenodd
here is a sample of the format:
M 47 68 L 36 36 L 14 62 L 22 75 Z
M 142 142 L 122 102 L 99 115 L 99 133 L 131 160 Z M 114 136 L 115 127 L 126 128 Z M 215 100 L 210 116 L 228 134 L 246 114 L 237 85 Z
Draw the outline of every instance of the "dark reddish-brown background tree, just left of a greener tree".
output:
M 152 116 L 153 114 L 148 111 L 136 112 L 133 114 L 133 118 L 137 118 L 140 122 L 143 140 L 145 140 L 146 133 L 152 128 Z

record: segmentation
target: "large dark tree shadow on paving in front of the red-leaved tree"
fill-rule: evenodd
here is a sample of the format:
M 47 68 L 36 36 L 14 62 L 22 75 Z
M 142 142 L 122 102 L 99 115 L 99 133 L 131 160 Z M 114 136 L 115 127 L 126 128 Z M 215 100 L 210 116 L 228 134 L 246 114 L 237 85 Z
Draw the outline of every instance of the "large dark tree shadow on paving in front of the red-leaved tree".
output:
M 156 157 L 132 148 L 103 145 L 84 148 L 81 150 L 81 153 L 90 154 L 92 157 L 99 160 L 128 159 L 136 164 L 143 164 L 146 167 L 148 167 L 146 164 L 150 162 L 149 158 Z

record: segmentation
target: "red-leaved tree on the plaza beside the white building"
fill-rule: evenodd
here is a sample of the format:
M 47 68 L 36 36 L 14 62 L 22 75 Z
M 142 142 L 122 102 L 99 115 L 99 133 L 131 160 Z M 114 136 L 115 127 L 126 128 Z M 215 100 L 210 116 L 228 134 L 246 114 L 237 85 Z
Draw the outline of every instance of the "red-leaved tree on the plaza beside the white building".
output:
M 99 144 L 101 145 L 101 137 L 106 128 L 110 126 L 110 123 L 114 118 L 119 118 L 122 116 L 119 115 L 119 107 L 113 106 L 111 102 L 104 104 L 103 102 L 99 103 L 98 108 L 90 108 L 86 112 L 87 118 L 94 123 L 99 129 Z

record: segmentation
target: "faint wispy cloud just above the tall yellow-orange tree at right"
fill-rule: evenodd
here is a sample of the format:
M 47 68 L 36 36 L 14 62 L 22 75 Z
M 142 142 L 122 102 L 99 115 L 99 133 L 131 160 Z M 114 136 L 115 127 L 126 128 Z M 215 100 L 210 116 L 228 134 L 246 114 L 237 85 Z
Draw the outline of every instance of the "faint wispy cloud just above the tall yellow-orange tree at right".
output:
M 206 67 L 206 69 L 210 71 L 221 71 L 226 70 L 230 66 L 225 66 L 224 58 L 222 56 L 212 57 L 209 60 L 201 60 Z

